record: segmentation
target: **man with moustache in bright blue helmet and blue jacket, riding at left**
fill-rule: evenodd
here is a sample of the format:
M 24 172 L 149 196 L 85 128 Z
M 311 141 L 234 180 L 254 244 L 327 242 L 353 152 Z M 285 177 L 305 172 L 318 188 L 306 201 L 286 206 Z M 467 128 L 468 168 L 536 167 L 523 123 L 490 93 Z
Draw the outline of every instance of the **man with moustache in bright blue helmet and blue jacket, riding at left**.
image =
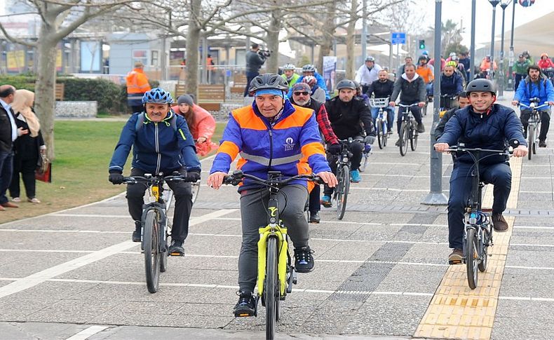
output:
M 144 111 L 133 114 L 121 131 L 119 142 L 109 163 L 109 182 L 123 183 L 123 165 L 133 147 L 131 176 L 187 174 L 187 181 L 200 179 L 200 161 L 187 122 L 170 109 L 173 98 L 161 88 L 153 88 L 142 96 Z M 171 230 L 170 254 L 183 254 L 184 239 L 189 233 L 192 209 L 191 184 L 170 182 L 175 194 L 175 215 Z M 133 241 L 140 242 L 142 205 L 146 186 L 127 186 L 129 213 L 135 220 Z

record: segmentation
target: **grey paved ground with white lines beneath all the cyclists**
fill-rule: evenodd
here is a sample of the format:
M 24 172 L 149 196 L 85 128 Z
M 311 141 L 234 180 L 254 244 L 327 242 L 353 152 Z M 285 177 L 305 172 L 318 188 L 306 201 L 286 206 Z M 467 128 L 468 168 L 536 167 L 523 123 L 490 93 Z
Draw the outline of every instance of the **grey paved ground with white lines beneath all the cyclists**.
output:
M 424 121 L 428 129 L 430 116 Z M 324 208 L 322 223 L 310 225 L 316 268 L 299 274 L 283 301 L 278 339 L 417 336 L 448 273 L 446 210 L 419 204 L 428 192 L 428 133 L 405 157 L 393 137 L 351 186 L 344 219 Z M 554 307 L 553 146 L 522 161 L 513 187 L 489 339 L 553 338 L 545 322 Z M 450 157 L 443 162 L 447 193 Z M 202 187 L 187 255 L 169 259 L 156 294 L 146 290 L 131 230 L 123 196 L 0 225 L 0 339 L 263 339 L 263 309 L 258 318 L 231 314 L 241 244 L 234 187 Z

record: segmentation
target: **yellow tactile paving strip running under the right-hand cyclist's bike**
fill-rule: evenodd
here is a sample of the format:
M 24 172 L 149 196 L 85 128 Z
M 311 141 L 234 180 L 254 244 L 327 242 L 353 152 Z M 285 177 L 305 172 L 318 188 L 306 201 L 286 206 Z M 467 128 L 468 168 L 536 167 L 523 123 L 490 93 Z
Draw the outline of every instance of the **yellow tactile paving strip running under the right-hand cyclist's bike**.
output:
M 508 209 L 517 208 L 522 158 L 511 158 L 512 191 Z M 492 207 L 492 186 L 483 198 L 485 208 Z M 490 339 L 496 313 L 508 244 L 512 236 L 513 217 L 506 217 L 506 233 L 494 233 L 494 247 L 489 247 L 489 263 L 479 273 L 478 287 L 468 287 L 466 265 L 450 266 L 431 299 L 414 336 L 438 339 Z

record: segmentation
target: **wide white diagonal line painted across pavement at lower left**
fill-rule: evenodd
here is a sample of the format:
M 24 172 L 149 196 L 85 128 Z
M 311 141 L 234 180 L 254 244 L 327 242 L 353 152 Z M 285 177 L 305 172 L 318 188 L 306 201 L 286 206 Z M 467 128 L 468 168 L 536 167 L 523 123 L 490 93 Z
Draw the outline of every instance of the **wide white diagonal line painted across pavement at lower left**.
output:
M 209 214 L 203 215 L 201 217 L 194 217 L 194 218 L 191 218 L 189 226 L 203 223 L 212 218 L 221 217 L 231 212 L 236 212 L 236 209 L 218 210 L 215 212 L 210 212 Z M 83 255 L 82 257 L 72 259 L 65 263 L 58 264 L 57 266 L 44 269 L 43 271 L 33 273 L 29 276 L 26 276 L 25 278 L 20 278 L 19 280 L 16 280 L 13 283 L 9 283 L 8 285 L 0 287 L 0 299 L 2 297 L 7 297 L 8 295 L 15 294 L 17 292 L 27 290 L 30 287 L 39 285 L 40 283 L 43 283 L 46 280 L 55 278 L 56 276 L 60 276 L 61 274 L 67 273 L 68 271 L 72 271 L 76 268 L 81 268 L 82 266 L 86 266 L 87 264 L 91 264 L 93 262 L 100 261 L 101 259 L 105 259 L 106 257 L 110 257 L 119 252 L 123 252 L 132 247 L 137 246 L 138 244 L 139 243 L 135 243 L 133 241 L 127 240 L 125 242 L 118 243 L 116 245 L 112 245 L 104 249 L 97 250 L 95 252 L 91 252 L 90 254 Z

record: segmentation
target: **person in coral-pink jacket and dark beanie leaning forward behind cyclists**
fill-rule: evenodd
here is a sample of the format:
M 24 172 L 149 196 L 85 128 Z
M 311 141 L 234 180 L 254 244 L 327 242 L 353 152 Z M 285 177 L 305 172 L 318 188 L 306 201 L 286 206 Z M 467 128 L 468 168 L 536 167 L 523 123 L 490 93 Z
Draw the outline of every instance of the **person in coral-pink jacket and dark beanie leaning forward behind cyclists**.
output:
M 208 111 L 194 104 L 190 95 L 178 97 L 177 105 L 171 109 L 187 121 L 198 156 L 205 156 L 217 149 L 217 144 L 211 139 L 215 132 L 215 119 Z

